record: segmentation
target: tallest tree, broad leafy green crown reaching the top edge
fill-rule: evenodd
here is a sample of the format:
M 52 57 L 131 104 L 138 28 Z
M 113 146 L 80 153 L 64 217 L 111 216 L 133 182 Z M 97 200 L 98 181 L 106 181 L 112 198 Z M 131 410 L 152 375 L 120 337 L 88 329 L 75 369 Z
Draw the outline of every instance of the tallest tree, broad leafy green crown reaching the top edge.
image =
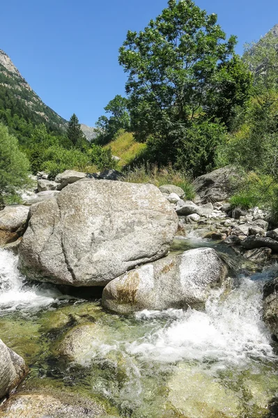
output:
M 235 43 L 235 36 L 226 40 L 217 15 L 192 0 L 169 0 L 144 31 L 128 31 L 119 63 L 128 72 L 131 128 L 137 139 L 151 135 L 152 146 L 164 147 L 163 164 L 166 157 L 176 162 L 185 138 L 196 140 L 190 137 L 194 124 L 229 128 L 235 109 L 249 98 L 252 75 L 235 55 Z M 207 132 L 206 125 L 202 142 Z

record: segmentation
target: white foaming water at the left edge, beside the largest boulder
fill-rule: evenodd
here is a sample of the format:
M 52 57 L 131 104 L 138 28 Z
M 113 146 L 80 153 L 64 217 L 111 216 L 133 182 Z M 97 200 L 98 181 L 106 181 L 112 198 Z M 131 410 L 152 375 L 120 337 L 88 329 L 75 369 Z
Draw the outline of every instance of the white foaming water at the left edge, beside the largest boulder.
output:
M 29 286 L 17 269 L 18 258 L 0 249 L 0 315 L 10 311 L 28 311 L 47 307 L 65 297 L 49 285 Z

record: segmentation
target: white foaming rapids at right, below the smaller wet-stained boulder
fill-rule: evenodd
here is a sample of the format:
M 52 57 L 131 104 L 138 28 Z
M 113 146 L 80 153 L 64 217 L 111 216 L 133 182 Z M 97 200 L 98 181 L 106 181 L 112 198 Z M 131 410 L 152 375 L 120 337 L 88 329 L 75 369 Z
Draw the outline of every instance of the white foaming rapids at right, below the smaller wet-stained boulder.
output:
M 227 364 L 274 357 L 270 334 L 261 320 L 259 284 L 250 279 L 242 279 L 242 284 L 226 297 L 222 291 L 215 291 L 206 311 L 168 312 L 167 324 L 127 344 L 128 353 L 157 362 L 213 362 L 220 369 Z M 137 319 L 165 316 L 167 311 L 142 311 Z

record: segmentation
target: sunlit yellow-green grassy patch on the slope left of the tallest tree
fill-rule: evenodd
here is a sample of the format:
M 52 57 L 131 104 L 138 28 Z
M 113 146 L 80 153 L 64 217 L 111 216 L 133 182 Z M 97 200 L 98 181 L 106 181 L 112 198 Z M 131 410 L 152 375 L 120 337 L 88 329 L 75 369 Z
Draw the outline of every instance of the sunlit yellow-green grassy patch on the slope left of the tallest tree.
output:
M 144 153 L 146 144 L 135 141 L 131 132 L 119 131 L 116 139 L 109 142 L 104 148 L 111 148 L 112 155 L 121 158 L 118 168 L 123 169 Z

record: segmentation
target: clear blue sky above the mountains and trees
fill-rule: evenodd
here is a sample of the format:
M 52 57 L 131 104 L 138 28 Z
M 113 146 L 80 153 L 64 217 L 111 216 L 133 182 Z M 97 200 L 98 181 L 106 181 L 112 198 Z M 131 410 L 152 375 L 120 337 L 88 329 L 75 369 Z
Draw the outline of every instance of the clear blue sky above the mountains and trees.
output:
M 278 23 L 277 0 L 196 0 L 217 13 L 237 52 Z M 76 113 L 93 126 L 103 107 L 124 94 L 118 48 L 128 29 L 140 30 L 167 0 L 1 1 L 0 49 L 40 98 L 61 116 Z

